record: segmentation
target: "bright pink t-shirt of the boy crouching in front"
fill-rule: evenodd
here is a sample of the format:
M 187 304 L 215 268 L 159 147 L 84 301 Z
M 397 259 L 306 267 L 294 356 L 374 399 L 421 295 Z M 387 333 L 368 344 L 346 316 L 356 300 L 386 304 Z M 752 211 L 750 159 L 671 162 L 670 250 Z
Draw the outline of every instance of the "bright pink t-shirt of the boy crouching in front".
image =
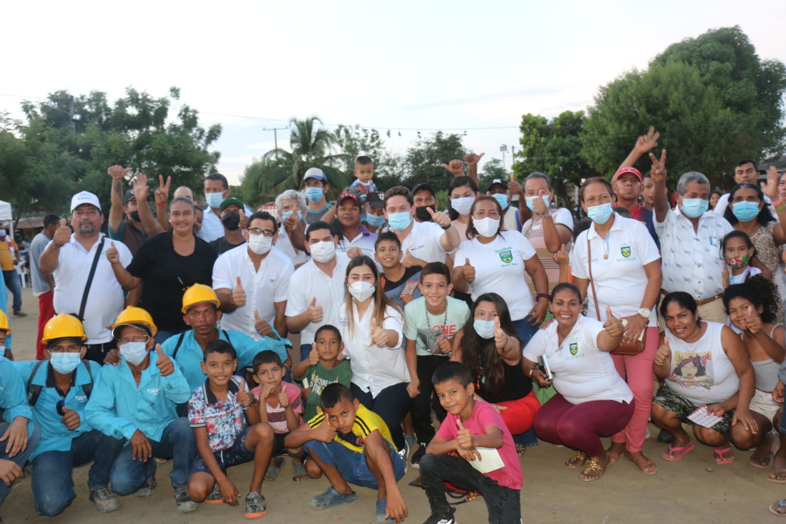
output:
M 457 415 L 448 413 L 443 423 L 439 425 L 437 436 L 445 441 L 454 440 L 458 436 L 457 418 L 459 418 Z M 502 447 L 497 451 L 505 466 L 483 475 L 493 478 L 500 486 L 521 489 L 523 475 L 521 475 L 521 464 L 519 455 L 516 453 L 516 445 L 513 443 L 508 427 L 505 426 L 505 422 L 502 421 L 502 417 L 494 409 L 494 406 L 486 401 L 476 401 L 472 416 L 463 423 L 463 426 L 473 435 L 486 434 L 486 428 L 489 426 L 496 426 L 502 431 Z

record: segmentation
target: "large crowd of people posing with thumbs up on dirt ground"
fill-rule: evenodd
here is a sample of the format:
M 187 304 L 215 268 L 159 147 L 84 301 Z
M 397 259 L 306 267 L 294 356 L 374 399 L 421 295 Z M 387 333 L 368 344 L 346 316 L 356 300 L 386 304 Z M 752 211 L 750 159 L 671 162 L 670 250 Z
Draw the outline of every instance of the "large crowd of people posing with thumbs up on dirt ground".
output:
M 145 175 L 125 189 L 130 170 L 109 167 L 108 220 L 79 192 L 31 244 L 35 361 L 14 361 L 0 312 L 0 503 L 29 461 L 35 511 L 60 515 L 72 468 L 92 463 L 88 496 L 115 511 L 156 493 L 171 460 L 178 512 L 237 506 L 227 469 L 251 462 L 252 519 L 288 456 L 293 481 L 330 482 L 314 510 L 363 486 L 376 522 L 401 522 L 414 467 L 425 522 L 454 522 L 448 486 L 513 523 L 526 445 L 571 449 L 586 482 L 623 456 L 656 475 L 650 421 L 666 462 L 695 441 L 717 464 L 752 449 L 786 483 L 786 180 L 743 159 L 728 193 L 689 171 L 672 202 L 658 137 L 639 137 L 611 181 L 583 181 L 572 211 L 545 174 L 480 186 L 483 154 L 466 174 L 443 164 L 443 207 L 427 183 L 378 191 L 367 156 L 334 203 L 312 167 L 275 210 L 213 173 L 204 210 L 160 177 L 154 214 Z

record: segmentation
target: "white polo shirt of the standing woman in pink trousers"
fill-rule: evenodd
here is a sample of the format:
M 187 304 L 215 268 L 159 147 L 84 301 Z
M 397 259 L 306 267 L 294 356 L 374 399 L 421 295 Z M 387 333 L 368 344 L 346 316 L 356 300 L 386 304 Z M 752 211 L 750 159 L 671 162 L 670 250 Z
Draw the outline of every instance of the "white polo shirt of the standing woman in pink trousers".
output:
M 606 238 L 595 230 L 595 222 L 576 239 L 571 251 L 571 271 L 576 278 L 589 279 L 587 238 L 592 246 L 592 274 L 597 291 L 601 321 L 606 321 L 606 306 L 612 307 L 615 317 L 630 317 L 641 308 L 647 288 L 644 266 L 660 258 L 655 240 L 647 227 L 633 218 L 612 214 L 614 223 Z M 608 258 L 606 258 L 608 255 Z M 595 316 L 592 285 L 587 286 L 589 304 L 587 317 Z M 656 326 L 657 315 L 652 308 L 648 326 Z

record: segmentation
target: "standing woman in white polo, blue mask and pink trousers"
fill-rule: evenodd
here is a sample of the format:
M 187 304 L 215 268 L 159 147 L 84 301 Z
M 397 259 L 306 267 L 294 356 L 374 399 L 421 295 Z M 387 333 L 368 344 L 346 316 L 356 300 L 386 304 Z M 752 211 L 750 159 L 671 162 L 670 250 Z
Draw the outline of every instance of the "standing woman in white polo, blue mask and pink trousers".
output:
M 636 409 L 625 430 L 612 435 L 607 453 L 614 464 L 624 451 L 642 473 L 655 475 L 658 467 L 641 453 L 641 446 L 652 406 L 652 357 L 658 349 L 658 323 L 653 308 L 663 273 L 658 247 L 647 228 L 637 220 L 615 214 L 613 195 L 612 185 L 605 178 L 589 178 L 579 189 L 582 209 L 592 224 L 576 238 L 571 270 L 578 291 L 589 298 L 587 317 L 606 321 L 606 306 L 612 306 L 626 321 L 623 341 L 633 343 L 641 337 L 645 343 L 640 354 L 612 355 L 619 375 L 634 392 Z

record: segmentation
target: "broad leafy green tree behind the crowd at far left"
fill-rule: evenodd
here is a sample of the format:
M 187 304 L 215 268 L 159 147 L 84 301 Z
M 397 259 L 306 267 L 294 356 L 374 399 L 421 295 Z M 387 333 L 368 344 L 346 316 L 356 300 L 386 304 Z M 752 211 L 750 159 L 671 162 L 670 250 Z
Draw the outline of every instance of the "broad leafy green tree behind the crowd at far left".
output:
M 6 121 L 0 130 L 0 183 L 13 188 L 15 212 L 66 213 L 82 190 L 96 193 L 108 209 L 106 169 L 115 163 L 171 176 L 175 186 L 200 187 L 218 163 L 219 152 L 208 147 L 221 126 L 200 127 L 187 105 L 171 115 L 179 97 L 175 87 L 160 98 L 129 88 L 114 105 L 100 91 L 77 97 L 57 91 L 40 104 L 24 102 L 26 122 Z

